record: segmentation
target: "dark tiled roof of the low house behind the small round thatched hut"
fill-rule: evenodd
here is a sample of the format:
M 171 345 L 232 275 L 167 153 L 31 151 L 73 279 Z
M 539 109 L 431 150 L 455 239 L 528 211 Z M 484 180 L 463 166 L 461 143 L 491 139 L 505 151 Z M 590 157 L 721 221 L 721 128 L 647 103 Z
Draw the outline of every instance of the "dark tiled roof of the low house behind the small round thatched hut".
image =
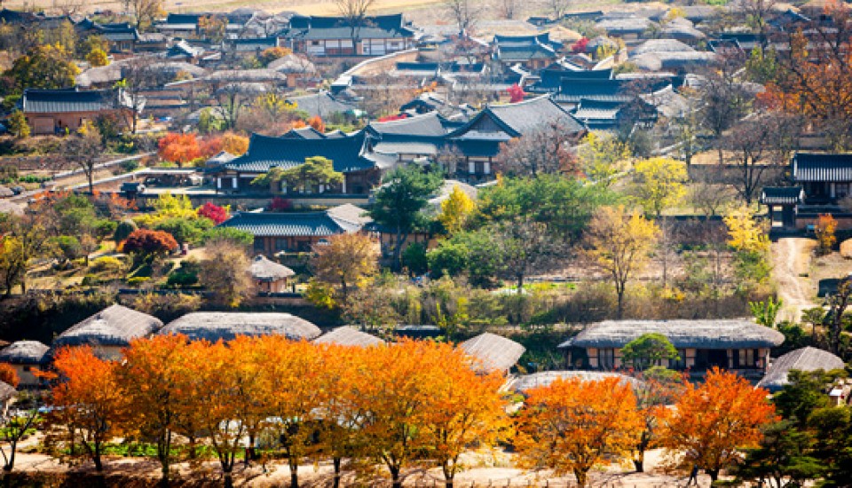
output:
M 256 237 L 327 237 L 349 230 L 326 212 L 238 212 L 219 226 Z

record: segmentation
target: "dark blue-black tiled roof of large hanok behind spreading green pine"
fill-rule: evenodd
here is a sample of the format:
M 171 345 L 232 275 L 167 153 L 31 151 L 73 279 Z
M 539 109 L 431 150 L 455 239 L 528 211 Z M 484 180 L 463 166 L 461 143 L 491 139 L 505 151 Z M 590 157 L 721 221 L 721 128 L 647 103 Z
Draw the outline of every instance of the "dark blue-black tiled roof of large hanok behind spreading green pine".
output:
M 226 169 L 266 172 L 273 167 L 293 168 L 313 156 L 334 162 L 335 171 L 342 173 L 369 169 L 375 166 L 362 156 L 362 133 L 346 138 L 271 138 L 252 134 L 248 152 L 225 163 Z

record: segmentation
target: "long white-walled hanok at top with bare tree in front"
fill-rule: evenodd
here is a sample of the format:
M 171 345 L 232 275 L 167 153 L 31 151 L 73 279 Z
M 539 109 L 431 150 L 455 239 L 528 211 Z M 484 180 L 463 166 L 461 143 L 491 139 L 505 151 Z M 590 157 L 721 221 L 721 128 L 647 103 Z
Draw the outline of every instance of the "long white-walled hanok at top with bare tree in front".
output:
M 310 56 L 383 56 L 414 47 L 414 36 L 401 13 L 367 17 L 359 26 L 343 17 L 296 15 L 279 34 L 282 45 Z

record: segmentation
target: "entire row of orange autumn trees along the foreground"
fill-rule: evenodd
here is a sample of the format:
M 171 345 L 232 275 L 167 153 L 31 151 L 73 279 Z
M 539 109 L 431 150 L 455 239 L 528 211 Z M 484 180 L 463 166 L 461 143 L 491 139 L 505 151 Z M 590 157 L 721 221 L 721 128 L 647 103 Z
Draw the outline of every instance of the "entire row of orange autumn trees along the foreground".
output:
M 641 468 L 655 446 L 670 451 L 673 467 L 698 465 L 715 479 L 775 419 L 765 391 L 719 371 L 700 386 L 671 374 L 557 380 L 526 392 L 510 419 L 505 378 L 482 368 L 438 342 L 347 348 L 266 336 L 225 345 L 169 335 L 133 342 L 122 362 L 66 349 L 55 361 L 51 439 L 98 470 L 114 438 L 151 443 L 163 480 L 177 453 L 195 458 L 206 446 L 231 485 L 238 455 L 248 463 L 260 447 L 287 459 L 292 486 L 300 465 L 325 459 L 335 486 L 347 460 L 356 471 L 383 465 L 395 487 L 414 466 L 441 468 L 452 486 L 463 453 L 510 443 L 523 466 L 586 485 L 610 462 Z

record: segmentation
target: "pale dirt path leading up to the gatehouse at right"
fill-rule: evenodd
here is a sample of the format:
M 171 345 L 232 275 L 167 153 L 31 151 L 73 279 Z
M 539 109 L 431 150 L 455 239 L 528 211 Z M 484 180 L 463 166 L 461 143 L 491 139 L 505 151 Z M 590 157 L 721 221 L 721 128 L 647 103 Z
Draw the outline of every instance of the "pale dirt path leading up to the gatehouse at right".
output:
M 784 300 L 781 320 L 799 321 L 801 312 L 817 306 L 813 302 L 816 287 L 807 274 L 811 256 L 817 242 L 803 238 L 784 238 L 772 244 L 772 274 L 778 287 L 778 296 Z

